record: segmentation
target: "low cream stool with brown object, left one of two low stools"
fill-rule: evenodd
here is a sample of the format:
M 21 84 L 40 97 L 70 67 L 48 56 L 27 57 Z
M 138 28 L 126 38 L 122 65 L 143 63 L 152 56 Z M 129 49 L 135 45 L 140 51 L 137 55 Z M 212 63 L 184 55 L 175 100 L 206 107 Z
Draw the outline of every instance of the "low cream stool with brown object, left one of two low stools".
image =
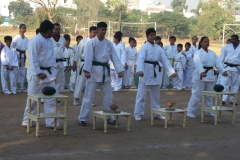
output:
M 107 113 L 103 111 L 93 111 L 93 129 L 96 128 L 96 117 L 104 119 L 104 133 L 107 133 L 107 119 L 108 116 L 115 116 L 116 125 L 115 128 L 118 127 L 118 116 L 127 117 L 127 131 L 130 131 L 130 121 L 131 121 L 131 113 L 120 112 L 120 113 Z

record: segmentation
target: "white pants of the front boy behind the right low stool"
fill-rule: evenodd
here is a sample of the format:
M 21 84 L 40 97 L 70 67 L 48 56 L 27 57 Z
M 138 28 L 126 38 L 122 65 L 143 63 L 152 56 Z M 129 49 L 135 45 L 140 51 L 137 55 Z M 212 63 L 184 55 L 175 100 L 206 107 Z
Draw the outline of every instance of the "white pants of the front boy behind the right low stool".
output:
M 137 97 L 136 97 L 136 104 L 134 108 L 134 117 L 136 116 L 142 117 L 144 115 L 148 88 L 150 90 L 151 109 L 160 108 L 159 85 L 145 85 L 145 83 L 139 82 Z M 155 116 L 158 116 L 158 115 L 155 114 Z

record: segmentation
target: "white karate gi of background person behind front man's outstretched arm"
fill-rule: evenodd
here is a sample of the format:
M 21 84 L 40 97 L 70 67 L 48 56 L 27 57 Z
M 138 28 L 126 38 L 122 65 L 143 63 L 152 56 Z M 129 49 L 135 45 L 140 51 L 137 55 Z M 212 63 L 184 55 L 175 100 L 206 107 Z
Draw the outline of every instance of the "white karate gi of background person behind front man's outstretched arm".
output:
M 113 43 L 113 47 L 120 59 L 122 66 L 125 66 L 126 63 L 126 52 L 123 43 L 119 42 L 118 44 Z M 119 91 L 122 88 L 122 78 L 118 78 L 118 74 L 114 68 L 112 61 L 109 61 L 111 69 L 111 84 L 114 91 Z

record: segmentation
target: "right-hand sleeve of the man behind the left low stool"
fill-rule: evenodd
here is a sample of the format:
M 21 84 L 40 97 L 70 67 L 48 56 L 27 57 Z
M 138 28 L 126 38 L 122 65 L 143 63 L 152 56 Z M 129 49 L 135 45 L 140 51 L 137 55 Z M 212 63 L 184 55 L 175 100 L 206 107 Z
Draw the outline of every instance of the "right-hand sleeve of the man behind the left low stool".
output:
M 110 47 L 110 59 L 113 62 L 116 72 L 117 73 L 123 72 L 124 68 L 123 68 L 122 62 L 118 58 L 117 53 L 116 53 L 112 43 L 109 43 L 109 47 Z M 125 59 L 123 59 L 123 60 L 125 61 Z

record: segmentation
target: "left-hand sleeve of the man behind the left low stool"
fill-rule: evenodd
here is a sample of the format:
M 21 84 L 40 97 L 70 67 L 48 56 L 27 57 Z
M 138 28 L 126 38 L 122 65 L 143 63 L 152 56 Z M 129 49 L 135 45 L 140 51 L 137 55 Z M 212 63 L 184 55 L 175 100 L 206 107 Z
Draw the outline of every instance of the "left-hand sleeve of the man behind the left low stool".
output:
M 85 52 L 85 62 L 83 66 L 83 70 L 87 72 L 91 72 L 92 70 L 92 61 L 93 61 L 93 44 L 92 41 L 89 41 L 86 45 Z

